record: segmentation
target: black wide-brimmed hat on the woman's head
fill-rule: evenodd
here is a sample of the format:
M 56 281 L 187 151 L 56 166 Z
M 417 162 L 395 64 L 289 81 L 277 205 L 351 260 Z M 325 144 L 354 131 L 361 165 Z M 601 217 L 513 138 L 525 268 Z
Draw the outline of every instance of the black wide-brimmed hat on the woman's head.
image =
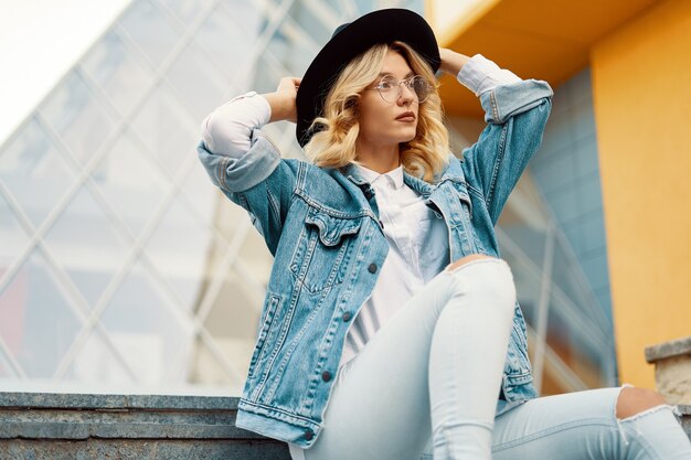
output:
M 439 47 L 432 28 L 419 14 L 390 8 L 364 14 L 353 22 L 339 25 L 329 42 L 307 68 L 297 94 L 297 127 L 300 146 L 309 141 L 310 125 L 321 115 L 325 99 L 341 69 L 358 55 L 378 43 L 405 42 L 432 67 L 439 68 Z

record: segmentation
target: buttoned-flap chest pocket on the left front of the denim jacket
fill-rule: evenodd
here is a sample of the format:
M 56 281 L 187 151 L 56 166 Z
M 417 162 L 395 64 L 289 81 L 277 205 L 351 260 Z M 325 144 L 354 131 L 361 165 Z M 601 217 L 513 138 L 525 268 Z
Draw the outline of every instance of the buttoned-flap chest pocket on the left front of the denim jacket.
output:
M 304 289 L 319 292 L 343 282 L 363 218 L 309 208 L 290 261 L 290 271 Z

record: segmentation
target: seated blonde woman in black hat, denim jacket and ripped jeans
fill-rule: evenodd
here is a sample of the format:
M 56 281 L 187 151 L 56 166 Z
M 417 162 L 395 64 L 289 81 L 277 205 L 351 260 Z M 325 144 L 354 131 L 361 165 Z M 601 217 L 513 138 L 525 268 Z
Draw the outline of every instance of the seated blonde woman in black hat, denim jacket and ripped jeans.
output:
M 463 160 L 437 69 L 487 113 Z M 238 427 L 308 460 L 691 459 L 653 392 L 536 398 L 493 226 L 551 96 L 391 9 L 340 26 L 301 79 L 210 115 L 201 161 L 275 256 Z M 276 120 L 297 121 L 309 163 L 262 135 Z

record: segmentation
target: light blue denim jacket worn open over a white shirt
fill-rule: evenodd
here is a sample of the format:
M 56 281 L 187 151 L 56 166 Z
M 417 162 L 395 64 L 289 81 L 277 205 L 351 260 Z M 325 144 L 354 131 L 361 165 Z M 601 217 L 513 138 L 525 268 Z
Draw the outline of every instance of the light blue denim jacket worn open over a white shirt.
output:
M 480 96 L 487 127 L 434 184 L 405 183 L 440 214 L 450 258 L 499 256 L 495 224 L 542 140 L 552 89 L 522 81 Z M 199 157 L 211 180 L 249 214 L 274 255 L 237 427 L 309 448 L 323 427 L 346 334 L 370 297 L 389 245 L 373 188 L 352 164 L 283 159 L 259 129 L 241 158 Z M 508 403 L 536 396 L 525 323 L 515 306 L 501 385 Z

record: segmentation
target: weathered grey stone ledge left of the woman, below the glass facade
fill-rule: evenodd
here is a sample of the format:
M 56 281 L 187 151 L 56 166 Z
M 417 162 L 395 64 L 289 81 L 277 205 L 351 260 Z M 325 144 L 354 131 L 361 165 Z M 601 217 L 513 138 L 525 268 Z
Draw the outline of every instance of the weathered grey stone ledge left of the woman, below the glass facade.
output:
M 234 397 L 0 393 L 1 459 L 289 460 L 235 427 Z

